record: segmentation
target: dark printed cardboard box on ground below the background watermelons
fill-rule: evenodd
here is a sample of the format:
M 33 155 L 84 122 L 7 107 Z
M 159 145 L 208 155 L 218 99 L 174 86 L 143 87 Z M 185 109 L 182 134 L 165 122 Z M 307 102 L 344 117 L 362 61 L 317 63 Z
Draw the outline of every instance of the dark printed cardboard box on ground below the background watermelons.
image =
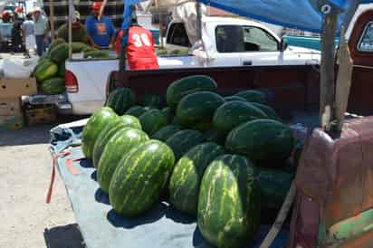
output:
M 28 125 L 53 123 L 57 120 L 57 108 L 54 105 L 27 105 L 24 115 Z

